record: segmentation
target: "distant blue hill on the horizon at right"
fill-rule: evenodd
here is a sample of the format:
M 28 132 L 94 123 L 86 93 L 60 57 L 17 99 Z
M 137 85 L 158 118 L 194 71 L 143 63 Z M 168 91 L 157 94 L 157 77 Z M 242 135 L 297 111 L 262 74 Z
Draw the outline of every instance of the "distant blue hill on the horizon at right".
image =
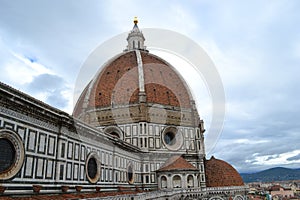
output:
M 241 173 L 245 183 L 300 180 L 300 169 L 275 167 L 256 173 Z

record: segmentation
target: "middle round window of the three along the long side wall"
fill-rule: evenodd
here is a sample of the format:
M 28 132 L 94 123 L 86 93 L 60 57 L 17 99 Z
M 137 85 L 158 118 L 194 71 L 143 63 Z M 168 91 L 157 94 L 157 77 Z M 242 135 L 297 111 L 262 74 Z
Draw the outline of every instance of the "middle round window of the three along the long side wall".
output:
M 96 152 L 92 152 L 88 155 L 85 170 L 87 179 L 91 183 L 97 183 L 100 178 L 100 161 Z

